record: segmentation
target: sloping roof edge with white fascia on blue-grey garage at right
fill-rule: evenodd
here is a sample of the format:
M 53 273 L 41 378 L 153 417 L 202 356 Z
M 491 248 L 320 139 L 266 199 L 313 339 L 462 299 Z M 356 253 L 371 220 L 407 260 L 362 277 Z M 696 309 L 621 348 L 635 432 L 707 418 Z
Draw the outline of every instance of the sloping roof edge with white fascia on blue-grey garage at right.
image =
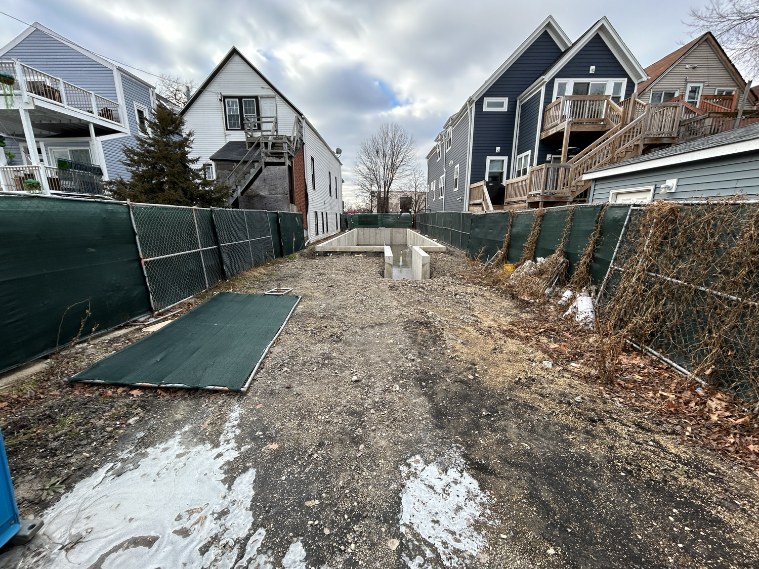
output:
M 716 158 L 751 150 L 759 150 L 759 123 L 713 134 L 710 137 L 692 140 L 688 143 L 676 144 L 669 146 L 669 148 L 650 152 L 650 154 L 627 159 L 618 164 L 604 166 L 587 172 L 584 174 L 583 180 L 606 178 L 606 176 L 616 176 L 617 174 L 627 174 L 628 172 Z

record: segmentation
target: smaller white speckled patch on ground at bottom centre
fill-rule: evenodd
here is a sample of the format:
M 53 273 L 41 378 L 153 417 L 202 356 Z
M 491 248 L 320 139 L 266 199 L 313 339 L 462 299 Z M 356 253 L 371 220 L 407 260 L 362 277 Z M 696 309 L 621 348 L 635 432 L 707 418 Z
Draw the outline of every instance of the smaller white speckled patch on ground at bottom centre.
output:
M 449 451 L 431 464 L 420 456 L 402 466 L 406 483 L 401 492 L 401 532 L 406 536 L 402 557 L 411 569 L 463 567 L 487 546 L 474 523 L 487 514 L 487 495 L 465 470 L 458 451 Z M 435 551 L 433 551 L 433 548 Z

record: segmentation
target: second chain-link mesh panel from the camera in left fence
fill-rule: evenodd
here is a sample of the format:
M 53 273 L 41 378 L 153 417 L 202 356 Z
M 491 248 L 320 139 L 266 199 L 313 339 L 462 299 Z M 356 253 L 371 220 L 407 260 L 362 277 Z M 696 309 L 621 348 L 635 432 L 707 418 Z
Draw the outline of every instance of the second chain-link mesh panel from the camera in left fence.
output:
M 269 215 L 265 211 L 214 207 L 211 212 L 227 277 L 274 258 Z

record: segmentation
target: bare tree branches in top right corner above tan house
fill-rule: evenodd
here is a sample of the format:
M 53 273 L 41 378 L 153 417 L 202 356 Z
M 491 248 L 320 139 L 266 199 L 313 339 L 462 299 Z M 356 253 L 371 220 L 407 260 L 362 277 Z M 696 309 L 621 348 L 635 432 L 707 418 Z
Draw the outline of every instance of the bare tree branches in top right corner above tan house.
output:
M 703 8 L 691 8 L 688 26 L 714 34 L 744 73 L 759 71 L 759 2 L 710 0 Z

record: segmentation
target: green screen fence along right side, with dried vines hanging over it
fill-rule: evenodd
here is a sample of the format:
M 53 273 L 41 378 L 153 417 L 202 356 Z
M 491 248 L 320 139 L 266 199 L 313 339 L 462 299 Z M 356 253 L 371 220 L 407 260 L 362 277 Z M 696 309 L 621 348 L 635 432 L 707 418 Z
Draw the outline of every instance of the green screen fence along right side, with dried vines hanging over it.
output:
M 600 285 L 609 269 L 619 236 L 622 234 L 630 209 L 629 205 L 598 203 L 544 210 L 541 212 L 543 218 L 540 222 L 534 258 L 547 257 L 554 253 L 569 223 L 569 233 L 563 253 L 569 261 L 568 276 L 571 276 L 591 240 L 591 235 L 596 231 L 602 209 L 603 217 L 599 226 L 600 239 L 591 264 L 592 281 L 594 285 Z M 505 252 L 506 261 L 515 263 L 521 259 L 524 252 L 524 245 L 536 222 L 537 211 L 528 209 L 518 212 L 483 214 L 417 213 L 417 228 L 422 234 L 461 249 L 471 259 L 479 259 L 483 263 L 489 262 L 499 253 L 504 238 L 509 234 L 509 249 Z

